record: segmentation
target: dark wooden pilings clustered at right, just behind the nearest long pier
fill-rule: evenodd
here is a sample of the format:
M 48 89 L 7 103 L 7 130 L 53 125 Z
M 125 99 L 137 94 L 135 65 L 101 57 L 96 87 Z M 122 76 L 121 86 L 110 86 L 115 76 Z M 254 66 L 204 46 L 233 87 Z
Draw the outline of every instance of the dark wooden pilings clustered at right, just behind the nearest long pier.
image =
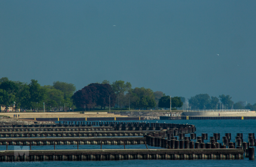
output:
M 190 137 L 185 136 L 185 134 L 179 134 L 179 140 L 177 140 L 177 137 L 165 139 L 160 133 L 153 133 L 146 136 L 146 143 L 150 146 L 166 149 L 243 149 L 245 157 L 254 159 L 254 148 L 250 148 L 250 146 L 255 146 L 254 133 L 248 134 L 249 142 L 243 142 L 242 138 L 243 134 L 237 133 L 236 143 L 230 142 L 231 134 L 226 133 L 222 138 L 222 145 L 217 142 L 217 140 L 220 140 L 220 134 L 218 133 L 213 133 L 213 136 L 210 137 L 210 143 L 204 143 L 204 140 L 208 140 L 208 134 L 201 134 L 198 137 L 196 137 L 195 133 L 191 133 Z M 191 141 L 191 139 L 196 139 L 196 142 Z

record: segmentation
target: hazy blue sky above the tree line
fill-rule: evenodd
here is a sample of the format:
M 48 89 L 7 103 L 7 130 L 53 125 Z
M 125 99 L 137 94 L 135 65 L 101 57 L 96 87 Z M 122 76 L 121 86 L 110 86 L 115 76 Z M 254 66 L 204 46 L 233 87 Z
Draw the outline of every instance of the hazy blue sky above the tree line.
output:
M 0 1 L 0 77 L 256 103 L 256 1 Z M 116 25 L 116 26 L 113 26 Z M 219 54 L 219 55 L 217 55 Z

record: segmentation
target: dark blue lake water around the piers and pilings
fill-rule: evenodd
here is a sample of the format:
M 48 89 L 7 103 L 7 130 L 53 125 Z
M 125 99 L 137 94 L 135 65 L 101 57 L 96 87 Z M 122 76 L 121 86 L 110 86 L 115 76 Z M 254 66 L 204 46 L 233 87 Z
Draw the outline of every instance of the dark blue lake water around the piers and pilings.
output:
M 256 133 L 255 120 L 157 120 L 159 123 L 180 123 L 193 124 L 196 126 L 196 136 L 201 136 L 201 133 L 208 133 L 209 142 L 210 136 L 213 133 L 220 133 L 220 138 L 225 133 L 231 133 L 231 141 L 235 142 L 236 133 L 243 133 L 243 139 L 247 142 L 248 133 Z M 132 121 L 127 121 L 132 122 Z M 136 121 L 137 122 L 137 121 Z M 142 122 L 142 121 L 141 121 Z M 147 120 L 148 122 L 148 120 Z M 149 120 L 149 122 L 156 122 L 156 120 Z M 187 135 L 189 136 L 189 134 Z M 218 141 L 222 143 L 222 141 Z M 145 145 L 127 145 L 126 149 L 146 149 Z M 8 146 L 8 149 L 14 149 L 14 146 Z M 13 148 L 12 148 L 13 147 Z M 52 146 L 33 146 L 34 149 L 53 149 Z M 98 145 L 79 145 L 79 149 L 99 149 Z M 102 149 L 123 149 L 121 145 L 103 145 Z M 131 147 L 131 148 L 129 148 Z M 6 146 L 0 146 L 0 150 L 6 149 Z M 32 148 L 33 149 L 33 148 Z M 76 145 L 56 145 L 56 149 L 77 149 Z M 155 149 L 155 148 L 154 148 Z M 159 149 L 159 148 L 158 148 Z M 46 161 L 46 162 L 27 162 L 27 163 L 0 163 L 0 166 L 110 166 L 110 167 L 138 167 L 138 166 L 196 166 L 196 167 L 212 167 L 212 166 L 256 166 L 256 161 L 249 161 L 248 158 L 244 160 L 124 160 L 124 161 L 84 161 L 84 162 L 70 162 L 70 161 Z

